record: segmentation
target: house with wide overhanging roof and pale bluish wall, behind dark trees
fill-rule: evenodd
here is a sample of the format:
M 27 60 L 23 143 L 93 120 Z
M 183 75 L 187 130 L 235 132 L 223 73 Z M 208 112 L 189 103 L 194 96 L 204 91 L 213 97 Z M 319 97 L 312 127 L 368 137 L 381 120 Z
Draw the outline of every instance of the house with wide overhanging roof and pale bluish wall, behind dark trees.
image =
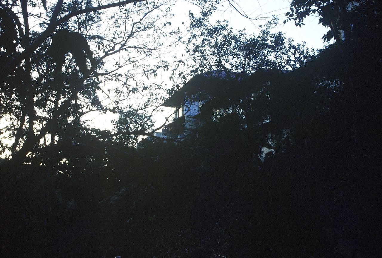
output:
M 269 92 L 276 84 L 280 86 L 278 83 L 283 83 L 287 74 L 262 69 L 249 76 L 225 71 L 196 75 L 162 104 L 173 108 L 173 119 L 155 136 L 181 139 L 206 118 L 219 119 L 235 113 L 241 117 L 245 130 L 260 132 L 262 140 L 253 146 L 253 151 L 264 162 L 267 153 L 282 149 L 280 144 L 290 132 L 284 123 L 272 121 L 268 110 Z

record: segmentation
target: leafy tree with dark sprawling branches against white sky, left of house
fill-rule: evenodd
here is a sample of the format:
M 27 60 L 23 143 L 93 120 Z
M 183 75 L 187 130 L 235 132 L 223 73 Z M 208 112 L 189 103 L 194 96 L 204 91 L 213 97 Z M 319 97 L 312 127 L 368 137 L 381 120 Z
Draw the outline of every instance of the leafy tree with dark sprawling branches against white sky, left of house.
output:
M 82 117 L 92 111 L 120 114 L 117 127 L 126 137 L 147 135 L 158 84 L 141 78 L 167 65 L 152 60 L 170 34 L 176 41 L 162 19 L 170 6 L 167 0 L 2 2 L 0 118 L 12 143 L 3 141 L 1 151 L 18 164 L 80 131 L 92 134 L 73 131 L 86 128 Z M 137 94 L 144 101 L 133 105 Z

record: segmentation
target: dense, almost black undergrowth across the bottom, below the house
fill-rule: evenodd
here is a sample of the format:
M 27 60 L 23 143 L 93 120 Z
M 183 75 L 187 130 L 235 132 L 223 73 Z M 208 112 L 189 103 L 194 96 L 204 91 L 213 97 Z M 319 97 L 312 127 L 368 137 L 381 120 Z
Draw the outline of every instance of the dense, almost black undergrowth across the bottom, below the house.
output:
M 259 166 L 236 154 L 196 158 L 184 144 L 151 143 L 88 174 L 8 168 L 18 176 L 2 185 L 3 254 L 378 257 L 371 164 L 289 153 Z

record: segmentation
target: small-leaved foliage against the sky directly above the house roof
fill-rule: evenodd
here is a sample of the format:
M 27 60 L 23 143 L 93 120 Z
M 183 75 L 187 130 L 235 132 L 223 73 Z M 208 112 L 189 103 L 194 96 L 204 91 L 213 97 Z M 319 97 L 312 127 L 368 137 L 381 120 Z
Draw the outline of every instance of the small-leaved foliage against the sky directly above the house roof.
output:
M 195 65 L 191 73 L 224 70 L 242 74 L 264 69 L 295 69 L 304 63 L 314 50 L 304 44 L 293 44 L 282 32 L 271 32 L 277 19 L 260 26 L 259 34 L 248 35 L 244 30 L 234 32 L 228 21 L 212 24 L 208 16 L 190 13 L 191 36 L 187 52 Z

